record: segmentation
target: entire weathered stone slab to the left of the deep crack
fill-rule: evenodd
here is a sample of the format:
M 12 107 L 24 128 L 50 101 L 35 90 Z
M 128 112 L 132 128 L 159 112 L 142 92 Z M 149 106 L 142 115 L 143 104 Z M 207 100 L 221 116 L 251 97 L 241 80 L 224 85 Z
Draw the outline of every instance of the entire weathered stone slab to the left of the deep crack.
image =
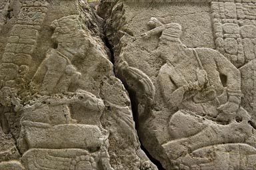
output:
M 157 169 L 94 9 L 12 3 L 0 1 L 0 169 Z

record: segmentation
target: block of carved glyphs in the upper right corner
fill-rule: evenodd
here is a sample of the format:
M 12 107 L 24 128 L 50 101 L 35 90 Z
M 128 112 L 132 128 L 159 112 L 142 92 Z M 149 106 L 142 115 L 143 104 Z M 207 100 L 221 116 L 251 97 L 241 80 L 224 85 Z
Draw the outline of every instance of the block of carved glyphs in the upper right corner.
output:
M 211 10 L 217 50 L 237 67 L 253 60 L 255 4 L 212 2 Z

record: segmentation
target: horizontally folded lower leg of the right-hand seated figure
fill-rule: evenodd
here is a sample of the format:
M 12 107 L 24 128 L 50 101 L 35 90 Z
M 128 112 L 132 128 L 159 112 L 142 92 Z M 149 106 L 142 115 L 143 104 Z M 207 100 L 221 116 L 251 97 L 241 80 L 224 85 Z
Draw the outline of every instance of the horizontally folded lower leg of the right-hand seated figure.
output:
M 208 126 L 196 135 L 165 143 L 163 147 L 167 150 L 169 158 L 177 159 L 181 155 L 192 153 L 196 149 L 210 145 L 244 143 L 248 132 L 252 130 L 251 126 L 245 122 L 234 122 L 227 126 L 214 124 L 210 121 L 206 121 L 205 124 Z

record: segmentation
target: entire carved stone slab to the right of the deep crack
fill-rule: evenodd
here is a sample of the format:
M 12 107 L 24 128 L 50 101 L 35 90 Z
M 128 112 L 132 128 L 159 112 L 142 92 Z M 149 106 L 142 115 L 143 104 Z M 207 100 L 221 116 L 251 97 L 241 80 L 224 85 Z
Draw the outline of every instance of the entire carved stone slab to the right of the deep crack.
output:
M 139 137 L 165 169 L 256 169 L 255 3 L 101 1 Z

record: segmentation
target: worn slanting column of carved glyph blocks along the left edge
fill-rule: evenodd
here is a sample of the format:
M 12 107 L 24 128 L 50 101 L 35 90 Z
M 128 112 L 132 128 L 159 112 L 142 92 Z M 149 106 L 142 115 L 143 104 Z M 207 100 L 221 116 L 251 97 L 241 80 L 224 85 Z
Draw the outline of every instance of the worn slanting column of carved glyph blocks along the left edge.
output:
M 1 1 L 1 7 L 4 7 L 0 15 L 0 30 L 3 23 L 7 23 L 7 17 L 11 17 L 9 12 L 11 1 Z M 3 6 L 2 6 L 3 5 Z M 19 137 L 19 119 L 21 118 L 22 104 L 18 97 L 18 93 L 22 93 L 25 86 L 25 79 L 29 72 L 31 64 L 31 55 L 35 52 L 37 39 L 39 35 L 40 25 L 43 23 L 45 13 L 47 12 L 48 3 L 45 1 L 44 11 L 37 15 L 41 20 L 37 23 L 33 21 L 26 22 L 22 15 L 26 7 L 26 3 L 21 7 L 21 11 L 17 16 L 19 22 L 13 26 L 7 40 L 3 56 L 0 64 L 0 117 L 1 117 L 1 138 L 5 148 L 1 150 L 0 163 L 3 169 L 23 169 L 19 163 L 19 149 L 15 145 L 15 141 Z M 31 4 L 30 10 L 35 13 L 41 4 Z M 2 8 L 1 8 L 2 9 Z M 29 14 L 25 14 L 29 17 Z M 10 161 L 17 160 L 17 161 Z

